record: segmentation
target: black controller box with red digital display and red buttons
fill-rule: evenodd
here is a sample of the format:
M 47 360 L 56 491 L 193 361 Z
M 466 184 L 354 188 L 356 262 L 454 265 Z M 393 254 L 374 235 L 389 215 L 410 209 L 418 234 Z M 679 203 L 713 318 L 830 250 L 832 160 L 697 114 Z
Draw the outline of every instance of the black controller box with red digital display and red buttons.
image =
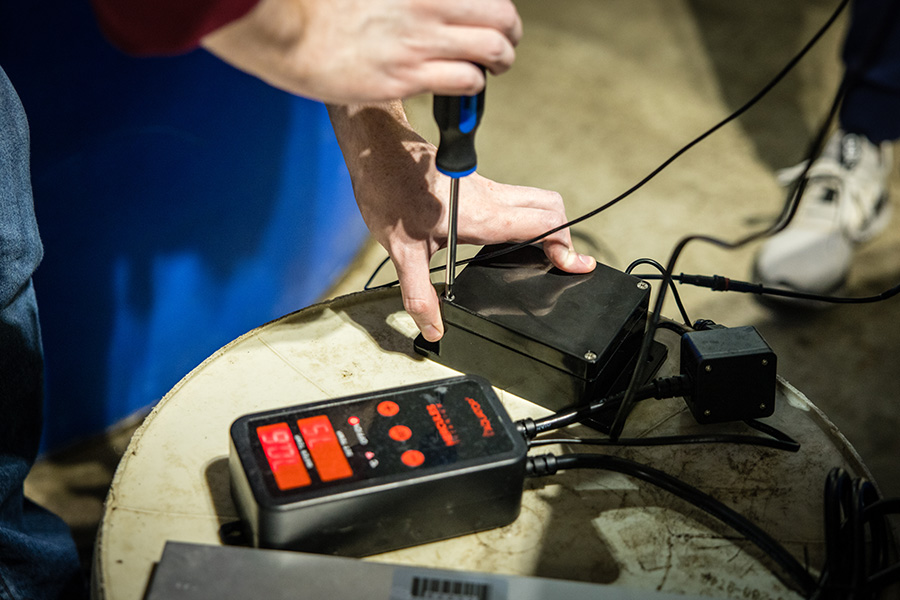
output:
M 526 451 L 465 376 L 241 417 L 229 470 L 255 546 L 365 556 L 511 523 Z

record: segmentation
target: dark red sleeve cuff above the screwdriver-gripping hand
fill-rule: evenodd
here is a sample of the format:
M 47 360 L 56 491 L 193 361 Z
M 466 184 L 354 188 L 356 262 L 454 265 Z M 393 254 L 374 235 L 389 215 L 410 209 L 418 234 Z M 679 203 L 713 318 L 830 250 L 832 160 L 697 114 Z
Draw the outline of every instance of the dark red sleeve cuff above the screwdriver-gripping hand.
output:
M 128 54 L 181 54 L 259 0 L 91 0 L 107 38 Z

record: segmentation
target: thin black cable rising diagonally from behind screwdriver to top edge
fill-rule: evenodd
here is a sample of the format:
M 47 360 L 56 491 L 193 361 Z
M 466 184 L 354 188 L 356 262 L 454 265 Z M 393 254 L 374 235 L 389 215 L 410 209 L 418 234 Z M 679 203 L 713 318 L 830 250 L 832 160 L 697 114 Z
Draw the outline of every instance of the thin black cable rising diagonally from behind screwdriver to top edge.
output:
M 691 140 L 690 142 L 688 142 L 687 144 L 682 146 L 679 150 L 677 150 L 669 158 L 664 160 L 659 166 L 657 166 L 649 174 L 644 176 L 644 178 L 641 179 L 640 181 L 638 181 L 636 184 L 632 185 L 630 188 L 628 188 L 627 190 L 625 190 L 624 192 L 622 192 L 621 194 L 619 194 L 612 200 L 609 200 L 608 202 L 595 208 L 594 210 L 587 212 L 587 213 L 581 215 L 580 217 L 572 219 L 571 221 L 563 223 L 562 225 L 560 225 L 558 227 L 554 227 L 553 229 L 545 231 L 544 233 L 542 233 L 538 236 L 535 236 L 535 237 L 531 238 L 530 240 L 525 240 L 524 242 L 512 244 L 510 246 L 503 248 L 502 250 L 490 252 L 488 254 L 485 254 L 484 256 L 477 256 L 477 257 L 472 257 L 472 258 L 467 258 L 465 260 L 457 261 L 456 266 L 466 265 L 476 259 L 478 261 L 493 260 L 499 256 L 503 256 L 504 254 L 508 254 L 510 252 L 519 250 L 525 246 L 529 246 L 531 244 L 536 244 L 537 242 L 540 242 L 547 236 L 553 235 L 554 233 L 556 233 L 558 231 L 562 231 L 563 229 L 567 229 L 567 228 L 577 225 L 583 221 L 586 221 L 592 217 L 597 216 L 601 212 L 605 211 L 608 208 L 615 206 L 616 204 L 618 204 L 619 202 L 621 202 L 622 200 L 624 200 L 625 198 L 627 198 L 634 192 L 636 192 L 639 189 L 641 189 L 642 187 L 644 187 L 647 183 L 649 183 L 653 178 L 655 178 L 657 175 L 659 175 L 669 165 L 671 165 L 673 162 L 675 162 L 676 160 L 681 158 L 681 156 L 684 155 L 688 150 L 692 149 L 694 146 L 696 146 L 697 144 L 699 144 L 700 142 L 702 142 L 703 140 L 705 140 L 706 138 L 708 138 L 709 136 L 714 134 L 716 131 L 718 131 L 725 125 L 731 123 L 732 121 L 734 121 L 735 119 L 737 119 L 738 117 L 743 115 L 750 108 L 752 108 L 755 104 L 757 104 L 760 100 L 762 100 L 770 91 L 772 91 L 772 89 L 776 85 L 778 85 L 781 82 L 781 80 L 784 79 L 787 76 L 787 74 L 790 73 L 794 69 L 794 67 L 797 66 L 797 63 L 799 63 L 803 59 L 803 57 L 806 56 L 806 54 L 818 43 L 819 39 L 821 39 L 821 37 L 823 35 L 825 35 L 825 33 L 831 28 L 831 26 L 834 24 L 834 22 L 837 20 L 837 18 L 840 16 L 840 14 L 843 12 L 843 10 L 846 8 L 847 4 L 849 4 L 849 2 L 850 2 L 850 0 L 841 0 L 840 4 L 835 9 L 835 11 L 831 14 L 831 16 L 828 18 L 828 20 L 825 21 L 825 24 L 822 25 L 822 27 L 820 27 L 818 31 L 816 31 L 816 33 L 812 36 L 812 38 L 810 38 L 810 40 L 806 44 L 804 44 L 803 48 L 801 48 L 800 51 L 797 52 L 797 54 L 795 54 L 787 62 L 787 64 L 785 64 L 785 66 L 782 67 L 782 69 L 778 73 L 775 74 L 775 76 L 768 83 L 766 83 L 756 94 L 754 94 L 742 106 L 740 106 L 737 110 L 732 112 L 730 115 L 728 115 L 727 117 L 725 117 L 724 119 L 722 119 L 721 121 L 719 121 L 718 123 L 716 123 L 715 125 L 710 127 L 709 129 L 707 129 L 706 131 L 704 131 L 697 137 L 695 137 L 693 140 Z M 809 165 L 807 165 L 807 170 L 808 170 L 808 166 Z M 806 175 L 806 171 L 804 171 L 804 173 L 801 175 L 801 177 L 798 178 L 798 181 L 801 181 L 801 183 L 799 184 L 799 188 L 800 188 L 801 192 L 802 192 L 802 189 L 805 188 L 805 185 L 806 185 L 805 184 L 805 175 Z M 381 267 L 378 267 L 378 268 L 380 269 Z M 446 267 L 445 266 L 432 267 L 429 270 L 429 272 L 435 273 L 437 271 L 443 270 L 444 268 L 446 268 Z M 370 280 L 373 278 L 374 278 L 374 274 L 372 275 Z M 376 286 L 371 289 L 377 290 L 377 289 L 382 289 L 382 288 L 394 287 L 398 283 L 399 283 L 399 281 L 395 280 L 390 283 L 385 283 L 385 284 Z

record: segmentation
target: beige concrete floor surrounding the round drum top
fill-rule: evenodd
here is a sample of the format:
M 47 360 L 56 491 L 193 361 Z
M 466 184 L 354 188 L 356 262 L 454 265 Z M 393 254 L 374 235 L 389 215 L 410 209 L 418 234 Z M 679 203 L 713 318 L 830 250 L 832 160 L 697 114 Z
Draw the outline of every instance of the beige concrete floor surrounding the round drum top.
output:
M 568 0 L 518 3 L 526 35 L 515 68 L 489 82 L 479 131 L 480 172 L 556 189 L 570 217 L 628 189 L 761 88 L 803 45 L 836 0 Z M 844 20 L 766 99 L 695 147 L 651 183 L 575 227 L 583 251 L 624 268 L 665 262 L 690 233 L 738 239 L 778 213 L 774 169 L 798 162 L 836 87 Z M 435 139 L 430 98 L 408 103 Z M 900 185 L 896 172 L 895 192 Z M 694 244 L 677 271 L 748 276 L 758 246 L 726 252 Z M 361 288 L 384 257 L 365 248 L 342 294 Z M 440 259 L 437 259 L 438 261 Z M 385 274 L 383 279 L 391 277 Z M 900 282 L 900 228 L 861 248 L 848 293 Z M 900 496 L 900 300 L 777 313 L 753 298 L 682 288 L 692 319 L 755 325 L 782 376 L 828 414 L 889 496 Z M 677 317 L 671 302 L 664 314 Z M 28 491 L 59 511 L 89 554 L 102 500 L 133 423 L 48 457 Z

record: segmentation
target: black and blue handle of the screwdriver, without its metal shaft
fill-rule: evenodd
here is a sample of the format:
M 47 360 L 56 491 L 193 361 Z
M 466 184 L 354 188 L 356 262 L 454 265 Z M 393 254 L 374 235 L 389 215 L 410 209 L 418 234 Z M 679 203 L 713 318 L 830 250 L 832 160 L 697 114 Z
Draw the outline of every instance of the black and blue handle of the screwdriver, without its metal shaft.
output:
M 475 171 L 475 131 L 483 114 L 484 89 L 475 96 L 434 97 L 434 120 L 441 132 L 435 159 L 438 171 L 453 178 Z

